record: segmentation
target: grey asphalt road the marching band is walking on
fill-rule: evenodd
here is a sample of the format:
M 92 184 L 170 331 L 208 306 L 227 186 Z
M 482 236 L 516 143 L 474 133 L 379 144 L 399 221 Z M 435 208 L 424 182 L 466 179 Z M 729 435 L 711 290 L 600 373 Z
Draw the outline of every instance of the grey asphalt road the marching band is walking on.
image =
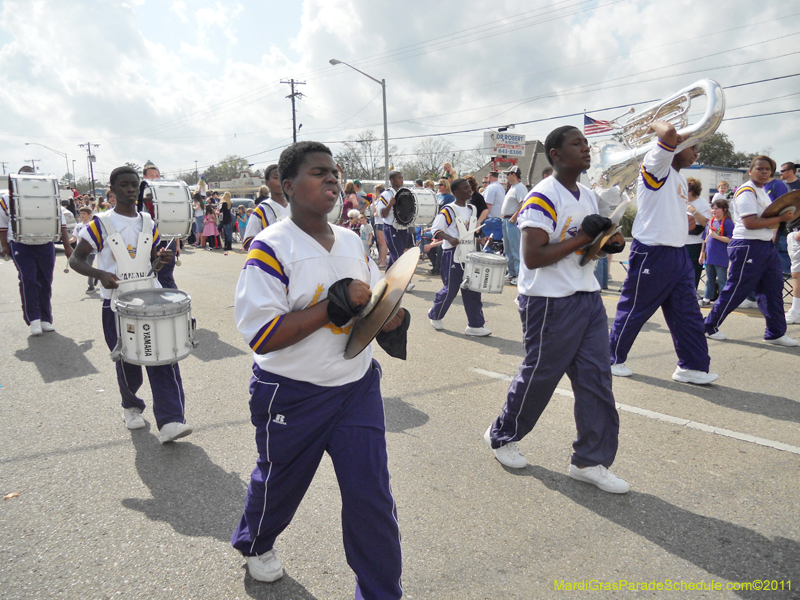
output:
M 85 293 L 85 279 L 65 274 L 59 253 L 57 332 L 33 338 L 14 266 L 0 261 L 0 492 L 19 494 L 0 503 L 0 597 L 353 597 L 327 458 L 276 544 L 281 581 L 254 581 L 231 548 L 256 458 L 251 358 L 232 317 L 244 256 L 190 250 L 182 262 L 176 280 L 192 296 L 200 340 L 181 362 L 194 433 L 161 446 L 154 425 L 130 432 L 122 423 L 100 302 Z M 465 338 L 460 300 L 437 332 L 425 314 L 440 281 L 427 268 L 404 299 L 409 359 L 376 351 L 405 597 L 800 597 L 800 349 L 761 342 L 757 311 L 734 313 L 723 327 L 730 340 L 710 342 L 720 379 L 708 387 L 671 380 L 676 357 L 664 320 L 647 324 L 627 362 L 633 377 L 614 380 L 613 471 L 632 488 L 615 496 L 566 474 L 575 435 L 566 378 L 520 443 L 529 466 L 515 471 L 494 459 L 483 432 L 522 356 L 513 290 L 484 296 L 491 337 Z M 616 263 L 612 275 L 618 287 Z M 618 294 L 604 299 L 613 317 Z M 147 385 L 142 393 L 149 400 Z M 153 423 L 149 409 L 145 418 Z M 567 585 L 620 580 L 683 582 L 684 590 Z M 783 591 L 726 589 L 756 580 Z M 687 589 L 701 581 L 722 589 Z

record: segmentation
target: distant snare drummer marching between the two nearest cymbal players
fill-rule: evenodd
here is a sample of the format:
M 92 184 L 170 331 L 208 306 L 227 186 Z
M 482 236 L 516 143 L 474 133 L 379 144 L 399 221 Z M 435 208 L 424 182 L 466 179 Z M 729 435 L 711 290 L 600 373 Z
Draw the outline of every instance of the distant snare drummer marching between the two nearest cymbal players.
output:
M 464 311 L 467 313 L 467 328 L 464 333 L 476 337 L 491 335 L 492 332 L 484 327 L 486 319 L 483 317 L 480 293 L 460 287 L 464 280 L 464 259 L 469 252 L 475 251 L 474 235 L 466 240 L 459 239 L 459 229 L 467 231 L 474 229 L 477 224 L 477 210 L 472 204 L 468 204 L 472 198 L 472 188 L 466 179 L 456 179 L 450 184 L 450 190 L 456 198 L 455 202 L 445 205 L 431 226 L 434 239 L 444 240 L 441 262 L 444 287 L 436 293 L 428 318 L 434 329 L 444 329 L 442 320 L 460 289 Z M 463 248 L 456 252 L 460 246 Z

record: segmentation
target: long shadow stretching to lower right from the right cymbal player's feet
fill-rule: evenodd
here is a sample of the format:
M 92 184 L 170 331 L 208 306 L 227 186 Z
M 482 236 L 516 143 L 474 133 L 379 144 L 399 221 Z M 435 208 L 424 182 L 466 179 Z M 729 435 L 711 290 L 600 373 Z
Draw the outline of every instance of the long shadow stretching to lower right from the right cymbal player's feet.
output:
M 543 467 L 531 465 L 514 471 L 515 475 L 538 479 L 576 504 L 720 579 L 789 580 L 800 564 L 800 544 L 794 540 L 773 540 L 752 529 L 689 512 L 651 494 L 608 494 Z M 584 550 L 604 552 L 602 539 L 598 538 L 596 548 Z M 748 599 L 764 598 L 764 593 L 736 592 Z

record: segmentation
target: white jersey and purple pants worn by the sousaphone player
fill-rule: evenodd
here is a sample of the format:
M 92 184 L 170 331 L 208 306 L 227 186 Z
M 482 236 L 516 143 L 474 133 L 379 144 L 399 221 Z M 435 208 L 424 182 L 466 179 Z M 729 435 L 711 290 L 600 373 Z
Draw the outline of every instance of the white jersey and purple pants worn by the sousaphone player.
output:
M 644 324 L 661 308 L 678 366 L 708 372 L 711 359 L 686 252 L 688 184 L 672 168 L 675 147 L 659 140 L 644 157 L 636 188 L 628 276 L 611 326 L 612 364 L 624 363 Z

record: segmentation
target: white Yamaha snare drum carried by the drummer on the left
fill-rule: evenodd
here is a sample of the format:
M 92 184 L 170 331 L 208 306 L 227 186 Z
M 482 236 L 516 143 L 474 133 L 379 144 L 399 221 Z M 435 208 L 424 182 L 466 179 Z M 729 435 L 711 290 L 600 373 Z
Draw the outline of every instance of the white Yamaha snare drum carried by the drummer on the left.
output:
M 148 367 L 189 356 L 194 341 L 192 299 L 180 290 L 156 288 L 124 292 L 114 300 L 117 347 L 114 361 Z

